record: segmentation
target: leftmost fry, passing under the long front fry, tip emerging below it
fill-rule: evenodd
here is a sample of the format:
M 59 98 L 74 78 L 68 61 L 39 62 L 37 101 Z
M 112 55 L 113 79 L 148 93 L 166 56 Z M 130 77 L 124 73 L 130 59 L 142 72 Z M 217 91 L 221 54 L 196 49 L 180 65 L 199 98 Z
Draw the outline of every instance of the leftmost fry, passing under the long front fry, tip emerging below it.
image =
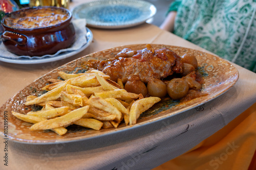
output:
M 18 119 L 23 120 L 24 122 L 32 123 L 32 124 L 36 124 L 38 122 L 47 120 L 47 119 L 42 118 L 42 117 L 21 114 L 21 113 L 17 113 L 17 112 L 14 112 L 14 111 L 12 111 L 12 114 L 15 117 L 17 117 Z M 51 130 L 53 132 L 57 133 L 58 135 L 63 135 L 68 131 L 66 128 L 63 128 L 63 127 L 53 128 Z

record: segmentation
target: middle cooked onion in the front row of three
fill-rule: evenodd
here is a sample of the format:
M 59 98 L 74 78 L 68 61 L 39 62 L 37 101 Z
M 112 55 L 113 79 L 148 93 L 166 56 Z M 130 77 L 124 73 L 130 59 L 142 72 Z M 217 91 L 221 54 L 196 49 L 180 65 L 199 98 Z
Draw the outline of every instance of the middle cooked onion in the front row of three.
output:
M 150 79 L 147 83 L 147 91 L 150 96 L 163 98 L 167 94 L 167 87 L 166 84 L 159 79 Z

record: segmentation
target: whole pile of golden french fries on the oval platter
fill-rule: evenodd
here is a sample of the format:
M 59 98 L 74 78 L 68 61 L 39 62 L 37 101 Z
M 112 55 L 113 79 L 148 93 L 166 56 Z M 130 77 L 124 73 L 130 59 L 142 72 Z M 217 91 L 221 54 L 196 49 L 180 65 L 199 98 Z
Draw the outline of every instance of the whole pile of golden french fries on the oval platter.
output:
M 133 125 L 142 112 L 161 100 L 127 92 L 121 80 L 113 82 L 99 70 L 58 74 L 63 80 L 49 80 L 51 84 L 42 88 L 47 93 L 27 96 L 25 105 L 42 106 L 40 111 L 12 111 L 15 117 L 34 124 L 30 130 L 50 129 L 63 135 L 72 124 L 94 130 L 117 128 L 123 120 L 126 126 Z

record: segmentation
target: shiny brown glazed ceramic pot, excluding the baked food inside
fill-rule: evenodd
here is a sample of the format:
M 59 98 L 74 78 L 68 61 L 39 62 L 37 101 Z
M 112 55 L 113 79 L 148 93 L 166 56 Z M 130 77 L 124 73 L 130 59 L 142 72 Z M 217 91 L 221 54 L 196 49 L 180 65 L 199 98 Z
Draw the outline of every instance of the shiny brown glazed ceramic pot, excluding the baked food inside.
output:
M 12 26 L 12 20 L 8 17 L 17 18 L 23 17 L 24 13 L 33 13 L 34 10 L 41 10 L 44 13 L 44 8 L 51 8 L 52 11 L 62 10 L 65 13 L 66 19 L 58 21 L 55 25 L 46 25 L 45 27 L 37 28 L 18 28 Z M 52 15 L 54 12 L 52 13 Z M 57 51 L 67 48 L 74 43 L 75 29 L 71 22 L 72 13 L 65 8 L 58 7 L 33 7 L 7 14 L 2 19 L 4 32 L 2 41 L 7 50 L 16 55 L 25 56 L 43 56 L 46 54 L 54 54 Z M 11 23 L 11 24 L 10 24 Z M 28 21 L 29 25 L 33 25 L 32 21 Z M 26 24 L 25 24 L 26 25 Z

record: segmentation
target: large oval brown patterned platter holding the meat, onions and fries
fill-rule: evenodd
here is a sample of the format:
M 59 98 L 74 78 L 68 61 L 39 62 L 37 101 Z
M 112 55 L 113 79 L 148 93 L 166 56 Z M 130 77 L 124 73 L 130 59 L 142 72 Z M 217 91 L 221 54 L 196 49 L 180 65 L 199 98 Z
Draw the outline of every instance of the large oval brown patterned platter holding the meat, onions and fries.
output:
M 32 124 L 25 123 L 22 120 L 15 118 L 11 111 L 16 111 L 20 113 L 27 113 L 29 108 L 26 106 L 25 100 L 28 95 L 38 95 L 41 94 L 42 87 L 44 87 L 49 79 L 58 78 L 58 71 L 65 71 L 69 73 L 84 72 L 87 68 L 84 67 L 83 62 L 88 59 L 98 59 L 105 60 L 108 58 L 113 58 L 118 52 L 120 52 L 124 47 L 130 47 L 132 50 L 141 50 L 145 48 L 145 44 L 134 44 L 125 45 L 110 48 L 108 50 L 96 52 L 82 58 L 76 59 L 69 62 L 63 66 L 60 66 L 48 74 L 40 77 L 39 79 L 32 82 L 30 85 L 24 89 L 17 92 L 11 99 L 9 99 L 0 109 L 0 135 L 4 136 L 4 118 L 8 114 L 8 138 L 17 142 L 34 143 L 34 144 L 49 144 L 56 142 L 70 142 L 79 140 L 88 140 L 95 137 L 101 137 L 102 135 L 109 135 L 118 132 L 123 132 L 126 130 L 133 130 L 138 126 L 144 126 L 148 124 L 154 124 L 159 120 L 163 120 L 170 116 L 180 114 L 189 109 L 195 108 L 202 105 L 212 99 L 217 98 L 217 96 L 226 92 L 230 87 L 232 87 L 239 78 L 238 70 L 231 65 L 228 61 L 223 60 L 217 56 L 213 56 L 207 53 L 203 53 L 190 48 L 169 46 L 162 44 L 152 44 L 155 49 L 167 47 L 176 52 L 178 55 L 183 55 L 185 53 L 193 54 L 197 57 L 199 63 L 199 69 L 202 73 L 205 83 L 203 84 L 202 92 L 208 95 L 193 99 L 191 101 L 182 103 L 179 101 L 172 101 L 169 98 L 161 100 L 159 103 L 155 104 L 152 108 L 143 112 L 137 120 L 136 125 L 125 126 L 121 123 L 117 129 L 101 129 L 99 131 L 91 130 L 83 127 L 67 127 L 68 132 L 65 135 L 59 136 L 52 131 L 30 131 L 29 128 Z

